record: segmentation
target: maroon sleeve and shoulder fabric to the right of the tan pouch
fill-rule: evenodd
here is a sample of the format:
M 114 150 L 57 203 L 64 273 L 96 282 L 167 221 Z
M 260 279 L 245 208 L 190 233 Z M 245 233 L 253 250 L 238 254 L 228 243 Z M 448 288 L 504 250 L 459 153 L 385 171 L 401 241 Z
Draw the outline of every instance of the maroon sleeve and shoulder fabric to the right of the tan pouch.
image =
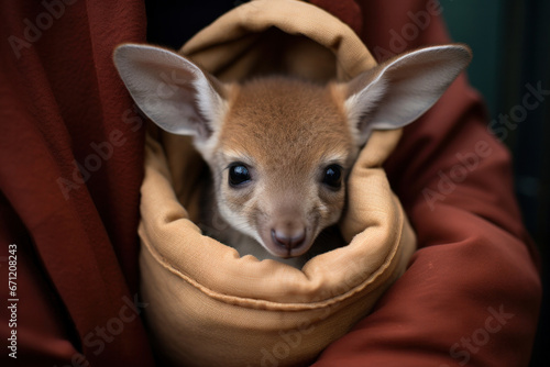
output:
M 358 3 L 361 36 L 378 58 L 450 42 L 436 1 Z M 539 259 L 513 196 L 509 154 L 486 125 L 480 96 L 462 76 L 405 129 L 386 169 L 420 249 L 374 312 L 316 367 L 528 365 Z

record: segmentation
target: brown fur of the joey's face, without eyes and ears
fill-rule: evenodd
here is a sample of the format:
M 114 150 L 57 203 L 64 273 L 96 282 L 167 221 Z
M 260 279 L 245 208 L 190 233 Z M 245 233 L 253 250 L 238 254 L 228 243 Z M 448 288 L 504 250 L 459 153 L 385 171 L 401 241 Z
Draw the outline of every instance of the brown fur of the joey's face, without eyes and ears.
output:
M 311 243 L 339 220 L 344 205 L 344 187 L 334 191 L 322 186 L 324 169 L 339 164 L 345 176 L 359 149 L 343 97 L 332 85 L 279 77 L 229 90 L 209 162 L 219 209 L 234 219 L 232 225 L 254 226 L 264 242 L 277 225 L 290 233 L 305 226 Z M 234 162 L 250 167 L 252 185 L 227 185 L 227 167 Z

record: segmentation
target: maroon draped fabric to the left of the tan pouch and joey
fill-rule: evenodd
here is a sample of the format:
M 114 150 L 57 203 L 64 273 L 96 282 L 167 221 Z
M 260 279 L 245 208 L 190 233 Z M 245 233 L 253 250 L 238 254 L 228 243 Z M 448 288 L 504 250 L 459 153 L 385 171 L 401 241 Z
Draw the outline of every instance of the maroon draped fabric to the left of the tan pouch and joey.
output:
M 138 290 L 143 131 L 111 62 L 117 44 L 144 41 L 144 5 L 0 7 L 0 256 L 18 245 L 18 365 L 80 365 L 79 353 L 95 366 L 152 365 L 141 309 L 129 304 Z

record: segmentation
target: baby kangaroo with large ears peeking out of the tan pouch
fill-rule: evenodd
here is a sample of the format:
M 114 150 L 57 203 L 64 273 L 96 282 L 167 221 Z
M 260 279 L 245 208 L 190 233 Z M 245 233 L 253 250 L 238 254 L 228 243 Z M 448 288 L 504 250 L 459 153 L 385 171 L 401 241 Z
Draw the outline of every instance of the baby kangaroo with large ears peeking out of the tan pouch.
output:
M 194 136 L 212 176 L 202 220 L 229 224 L 212 235 L 241 256 L 295 267 L 339 221 L 344 179 L 371 132 L 415 121 L 470 59 L 463 45 L 427 47 L 321 86 L 283 76 L 226 84 L 164 48 L 124 44 L 114 53 L 143 112 Z

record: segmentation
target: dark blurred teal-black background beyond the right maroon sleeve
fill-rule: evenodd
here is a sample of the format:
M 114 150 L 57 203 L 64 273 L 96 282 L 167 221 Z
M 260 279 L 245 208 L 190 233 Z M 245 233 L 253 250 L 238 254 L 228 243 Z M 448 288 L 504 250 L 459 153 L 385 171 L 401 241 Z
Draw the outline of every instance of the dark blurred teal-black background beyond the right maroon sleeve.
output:
M 528 85 L 550 90 L 550 1 L 440 0 L 449 32 L 472 47 L 471 84 L 484 96 L 492 120 L 517 113 Z M 543 259 L 542 282 L 550 285 L 550 96 L 502 142 L 514 157 L 516 194 L 524 222 Z M 519 105 L 519 108 L 518 108 Z M 522 118 L 522 116 L 521 116 Z M 499 136 L 499 135 L 497 135 Z M 548 140 L 548 142 L 547 142 Z M 498 185 L 498 182 L 495 182 Z M 550 298 L 544 291 L 531 367 L 550 366 Z

